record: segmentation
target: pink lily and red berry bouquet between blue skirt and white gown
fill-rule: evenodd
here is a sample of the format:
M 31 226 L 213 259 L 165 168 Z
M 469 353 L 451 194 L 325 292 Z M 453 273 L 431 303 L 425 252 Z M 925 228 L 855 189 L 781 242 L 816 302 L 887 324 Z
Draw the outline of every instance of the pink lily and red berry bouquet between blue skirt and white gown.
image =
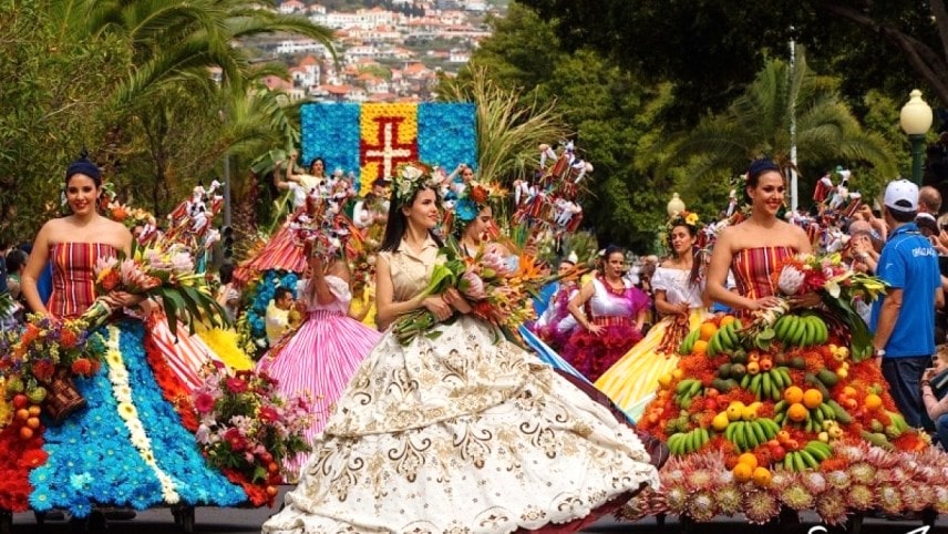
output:
M 261 490 L 256 499 L 249 493 L 253 500 L 272 500 L 284 481 L 284 459 L 310 450 L 303 434 L 310 423 L 306 400 L 281 398 L 265 373 L 229 376 L 220 368 L 208 371 L 192 399 L 199 419 L 196 438 L 208 462 L 245 489 Z

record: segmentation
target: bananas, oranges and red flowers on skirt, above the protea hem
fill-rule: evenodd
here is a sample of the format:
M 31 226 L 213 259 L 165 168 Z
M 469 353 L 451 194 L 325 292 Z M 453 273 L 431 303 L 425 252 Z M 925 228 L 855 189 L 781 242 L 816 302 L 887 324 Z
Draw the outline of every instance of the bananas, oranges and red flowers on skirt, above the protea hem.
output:
M 732 316 L 705 320 L 682 341 L 679 368 L 659 379 L 639 425 L 674 455 L 722 451 L 735 479 L 759 483 L 770 480 L 764 471 L 818 469 L 841 440 L 927 446 L 895 409 L 878 367 L 852 360 L 845 331 L 831 325 L 813 311 L 759 329 Z

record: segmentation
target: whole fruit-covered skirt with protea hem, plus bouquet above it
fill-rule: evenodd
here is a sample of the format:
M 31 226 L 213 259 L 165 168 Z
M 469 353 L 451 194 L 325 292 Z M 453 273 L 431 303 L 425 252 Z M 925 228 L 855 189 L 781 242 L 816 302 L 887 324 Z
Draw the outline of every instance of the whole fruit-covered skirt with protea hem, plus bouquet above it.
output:
M 672 459 L 660 493 L 625 515 L 743 513 L 762 524 L 789 509 L 841 525 L 867 511 L 948 511 L 948 456 L 898 413 L 853 311 L 884 283 L 838 255 L 787 258 L 773 281 L 777 306 L 710 318 L 682 340 L 639 421 Z M 805 294 L 823 306 L 797 308 Z

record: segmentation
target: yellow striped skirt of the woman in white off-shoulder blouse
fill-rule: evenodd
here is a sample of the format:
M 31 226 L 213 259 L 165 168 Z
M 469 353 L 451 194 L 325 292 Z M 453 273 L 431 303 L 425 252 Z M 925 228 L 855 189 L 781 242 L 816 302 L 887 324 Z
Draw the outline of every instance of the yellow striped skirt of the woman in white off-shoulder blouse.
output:
M 698 328 L 705 318 L 707 309 L 693 309 L 689 317 L 690 329 Z M 671 321 L 666 317 L 657 322 L 641 341 L 596 380 L 596 388 L 636 421 L 655 398 L 659 377 L 678 366 L 678 355 L 656 353 Z

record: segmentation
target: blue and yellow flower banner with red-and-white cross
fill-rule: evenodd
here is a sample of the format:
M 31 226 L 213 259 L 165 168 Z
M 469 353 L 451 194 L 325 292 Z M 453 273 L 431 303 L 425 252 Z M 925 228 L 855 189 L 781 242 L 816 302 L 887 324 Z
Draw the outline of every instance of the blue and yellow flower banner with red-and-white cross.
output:
M 302 162 L 353 172 L 357 187 L 391 177 L 400 163 L 422 161 L 451 171 L 477 166 L 474 104 L 306 104 Z

